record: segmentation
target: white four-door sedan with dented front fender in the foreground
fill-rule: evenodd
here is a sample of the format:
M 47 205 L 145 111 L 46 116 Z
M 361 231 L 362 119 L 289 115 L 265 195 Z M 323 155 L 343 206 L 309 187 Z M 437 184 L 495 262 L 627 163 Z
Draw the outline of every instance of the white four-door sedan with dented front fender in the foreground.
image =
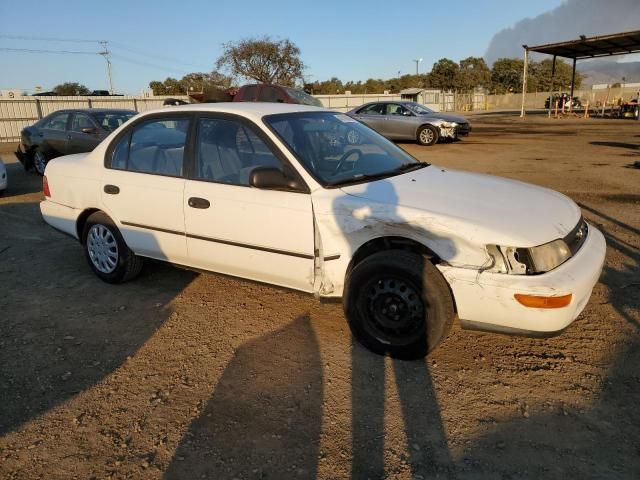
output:
M 418 358 L 457 317 L 526 335 L 587 304 L 602 234 L 569 198 L 421 163 L 350 117 L 269 103 L 147 112 L 47 165 L 44 219 L 102 280 L 144 257 L 342 298 L 371 350 Z

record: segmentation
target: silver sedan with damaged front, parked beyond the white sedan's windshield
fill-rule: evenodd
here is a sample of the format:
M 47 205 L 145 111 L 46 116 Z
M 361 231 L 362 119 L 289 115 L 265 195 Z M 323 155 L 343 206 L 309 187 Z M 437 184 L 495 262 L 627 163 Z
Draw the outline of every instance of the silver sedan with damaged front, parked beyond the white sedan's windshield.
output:
M 347 115 L 390 140 L 415 140 L 422 145 L 444 138 L 455 140 L 471 132 L 466 118 L 434 112 L 416 102 L 371 102 Z

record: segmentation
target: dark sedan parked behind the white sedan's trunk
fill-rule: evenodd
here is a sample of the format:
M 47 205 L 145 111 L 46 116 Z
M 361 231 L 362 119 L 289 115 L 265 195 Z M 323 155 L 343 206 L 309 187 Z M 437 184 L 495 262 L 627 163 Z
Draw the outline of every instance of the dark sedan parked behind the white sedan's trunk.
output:
M 90 152 L 135 114 L 110 108 L 58 110 L 22 130 L 16 156 L 25 170 L 33 167 L 43 175 L 52 158 Z

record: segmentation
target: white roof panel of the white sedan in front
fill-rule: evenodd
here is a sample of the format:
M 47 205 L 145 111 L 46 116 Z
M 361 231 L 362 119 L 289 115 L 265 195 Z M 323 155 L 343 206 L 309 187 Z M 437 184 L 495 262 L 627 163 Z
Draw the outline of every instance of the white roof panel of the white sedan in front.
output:
M 260 119 L 265 115 L 278 113 L 298 113 L 298 112 L 327 112 L 327 108 L 300 105 L 297 103 L 270 103 L 270 102 L 221 102 L 221 103 L 192 103 L 189 105 L 168 106 L 162 109 L 144 112 L 143 115 L 166 112 L 214 112 L 232 113 Z

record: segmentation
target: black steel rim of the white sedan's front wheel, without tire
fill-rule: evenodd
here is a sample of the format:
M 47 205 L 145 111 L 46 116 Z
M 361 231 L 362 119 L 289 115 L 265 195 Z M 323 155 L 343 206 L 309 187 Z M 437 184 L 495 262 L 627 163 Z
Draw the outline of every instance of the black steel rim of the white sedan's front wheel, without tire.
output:
M 421 332 L 424 305 L 417 289 L 401 278 L 373 279 L 367 292 L 369 319 L 376 337 L 404 343 Z

